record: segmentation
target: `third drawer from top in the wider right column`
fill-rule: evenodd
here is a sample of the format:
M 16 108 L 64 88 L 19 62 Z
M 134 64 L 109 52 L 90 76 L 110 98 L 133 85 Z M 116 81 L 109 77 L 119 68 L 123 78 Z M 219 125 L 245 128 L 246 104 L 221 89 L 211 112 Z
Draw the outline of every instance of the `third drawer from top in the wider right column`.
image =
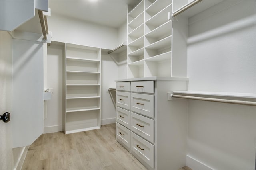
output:
M 154 120 L 131 113 L 131 131 L 154 143 Z

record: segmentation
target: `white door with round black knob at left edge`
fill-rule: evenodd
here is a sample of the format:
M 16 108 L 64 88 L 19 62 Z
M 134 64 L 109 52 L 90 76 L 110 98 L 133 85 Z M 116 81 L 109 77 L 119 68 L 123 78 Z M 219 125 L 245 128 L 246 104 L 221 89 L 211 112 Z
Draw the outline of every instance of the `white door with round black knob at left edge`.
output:
M 0 31 L 0 115 L 12 116 L 12 38 Z M 0 121 L 0 169 L 12 170 L 12 117 L 8 123 Z

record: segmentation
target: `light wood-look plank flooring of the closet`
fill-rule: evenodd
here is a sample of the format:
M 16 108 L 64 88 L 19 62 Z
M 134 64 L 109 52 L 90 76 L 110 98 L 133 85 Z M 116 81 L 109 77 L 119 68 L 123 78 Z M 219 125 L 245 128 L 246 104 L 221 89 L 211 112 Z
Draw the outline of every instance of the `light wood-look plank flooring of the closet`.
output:
M 28 149 L 22 170 L 146 170 L 115 137 L 115 124 L 72 133 L 42 134 Z M 191 170 L 188 167 L 179 170 Z

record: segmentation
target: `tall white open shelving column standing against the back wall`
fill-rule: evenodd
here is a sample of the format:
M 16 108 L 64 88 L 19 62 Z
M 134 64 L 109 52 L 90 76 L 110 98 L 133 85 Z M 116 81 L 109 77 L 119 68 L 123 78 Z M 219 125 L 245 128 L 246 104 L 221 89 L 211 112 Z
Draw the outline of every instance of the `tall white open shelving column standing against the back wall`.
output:
M 100 129 L 100 49 L 65 45 L 65 134 Z

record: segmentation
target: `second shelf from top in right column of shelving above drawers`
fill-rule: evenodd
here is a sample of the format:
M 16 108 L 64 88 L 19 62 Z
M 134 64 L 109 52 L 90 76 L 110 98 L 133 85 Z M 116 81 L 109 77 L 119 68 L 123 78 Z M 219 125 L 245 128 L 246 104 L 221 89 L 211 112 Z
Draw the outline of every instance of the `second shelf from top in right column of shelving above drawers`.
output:
M 164 8 L 163 10 L 161 10 L 160 12 L 158 12 L 156 15 L 154 15 L 152 18 L 150 18 L 149 20 L 147 20 L 145 23 L 147 25 L 153 25 L 153 26 L 160 26 L 163 23 L 166 23 L 168 20 L 168 12 L 172 11 L 172 5 L 168 5 L 166 6 L 166 8 Z

